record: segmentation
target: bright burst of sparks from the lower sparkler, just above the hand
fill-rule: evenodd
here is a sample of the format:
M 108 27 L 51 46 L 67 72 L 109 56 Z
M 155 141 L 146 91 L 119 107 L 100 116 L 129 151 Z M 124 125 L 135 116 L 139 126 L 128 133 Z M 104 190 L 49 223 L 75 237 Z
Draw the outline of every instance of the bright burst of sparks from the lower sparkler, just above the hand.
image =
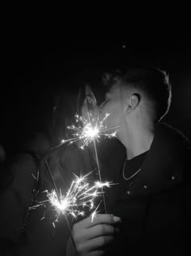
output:
M 46 190 L 48 199 L 42 202 L 38 202 L 36 206 L 32 206 L 31 209 L 36 209 L 38 206 L 45 206 L 49 203 L 51 208 L 56 211 L 56 220 L 58 220 L 60 215 L 71 215 L 74 219 L 78 216 L 85 216 L 87 212 L 91 212 L 91 219 L 93 220 L 98 206 L 95 206 L 96 197 L 99 197 L 102 192 L 100 189 L 103 187 L 110 187 L 111 182 L 100 182 L 95 181 L 91 185 L 88 183 L 88 176 L 91 172 L 87 173 L 85 176 L 75 176 L 72 181 L 70 188 L 66 192 L 66 195 L 62 195 L 61 191 L 59 195 L 57 191 L 53 189 L 50 193 Z M 55 222 L 54 221 L 54 222 Z

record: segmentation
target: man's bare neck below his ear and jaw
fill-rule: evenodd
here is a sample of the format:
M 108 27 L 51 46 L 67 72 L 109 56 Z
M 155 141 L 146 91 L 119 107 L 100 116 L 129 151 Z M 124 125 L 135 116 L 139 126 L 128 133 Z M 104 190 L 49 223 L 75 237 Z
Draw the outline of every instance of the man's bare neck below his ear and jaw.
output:
M 154 128 L 146 129 L 138 127 L 123 132 L 123 135 L 119 139 L 125 145 L 128 160 L 150 150 L 154 133 Z

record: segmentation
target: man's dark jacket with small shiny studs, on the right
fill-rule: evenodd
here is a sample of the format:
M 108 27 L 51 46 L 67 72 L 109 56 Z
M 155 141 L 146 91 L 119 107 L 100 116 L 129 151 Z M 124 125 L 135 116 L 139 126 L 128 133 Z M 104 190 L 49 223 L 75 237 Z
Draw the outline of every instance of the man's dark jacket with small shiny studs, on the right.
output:
M 106 202 L 111 202 L 111 212 L 120 216 L 122 223 L 117 242 L 107 255 L 189 255 L 187 143 L 176 129 L 159 124 L 129 192 L 119 196 L 120 184 L 108 190 Z M 123 164 L 124 158 L 113 175 L 106 174 L 108 180 L 120 181 Z

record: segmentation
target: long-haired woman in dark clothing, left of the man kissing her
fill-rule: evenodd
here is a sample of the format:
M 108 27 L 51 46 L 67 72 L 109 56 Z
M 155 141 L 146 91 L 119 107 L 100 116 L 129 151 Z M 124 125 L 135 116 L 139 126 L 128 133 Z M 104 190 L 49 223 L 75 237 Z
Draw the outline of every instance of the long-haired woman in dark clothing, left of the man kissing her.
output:
M 64 135 L 65 139 L 71 136 L 66 132 L 66 126 L 71 124 L 71 117 L 76 111 L 74 102 L 77 102 L 77 95 L 65 92 L 63 98 L 54 106 L 54 143 L 58 143 Z M 55 211 L 43 206 L 33 210 L 29 207 L 47 199 L 43 191 L 54 189 L 53 181 L 64 193 L 70 186 L 72 173 L 79 175 L 94 169 L 88 150 L 79 150 L 77 144 L 53 146 L 38 154 L 38 142 L 28 146 L 30 154 L 19 154 L 10 164 L 11 179 L 1 195 L 2 255 L 64 255 L 69 228 L 63 216 L 55 223 Z

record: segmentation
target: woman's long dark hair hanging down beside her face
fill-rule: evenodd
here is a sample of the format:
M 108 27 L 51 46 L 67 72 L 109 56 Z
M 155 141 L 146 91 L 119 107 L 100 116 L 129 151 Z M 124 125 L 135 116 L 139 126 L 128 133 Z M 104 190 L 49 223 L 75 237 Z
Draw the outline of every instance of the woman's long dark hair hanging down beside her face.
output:
M 54 98 L 53 124 L 50 135 L 52 146 L 45 152 L 40 160 L 40 180 L 42 183 L 51 181 L 58 185 L 66 183 L 66 176 L 71 176 L 70 170 L 66 170 L 65 154 L 79 151 L 79 145 L 73 143 L 62 144 L 62 140 L 73 137 L 74 131 L 67 127 L 75 123 L 75 114 L 81 114 L 81 106 L 85 98 L 85 86 L 81 89 L 64 90 L 61 89 Z M 81 124 L 82 125 L 82 124 Z M 66 152 L 67 151 L 67 152 Z M 74 159 L 75 161 L 75 159 Z M 52 173 L 52 177 L 49 174 Z

